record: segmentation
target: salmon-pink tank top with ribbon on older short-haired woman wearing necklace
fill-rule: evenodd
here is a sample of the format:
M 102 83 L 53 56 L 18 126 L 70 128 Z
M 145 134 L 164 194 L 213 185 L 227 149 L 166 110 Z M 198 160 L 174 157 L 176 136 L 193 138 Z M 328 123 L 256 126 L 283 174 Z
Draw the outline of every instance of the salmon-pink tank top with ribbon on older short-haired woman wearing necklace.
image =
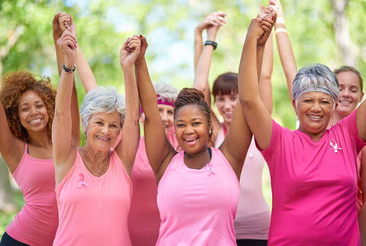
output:
M 59 227 L 53 245 L 131 245 L 131 193 L 131 180 L 115 150 L 100 177 L 90 174 L 76 151 L 74 165 L 56 187 Z

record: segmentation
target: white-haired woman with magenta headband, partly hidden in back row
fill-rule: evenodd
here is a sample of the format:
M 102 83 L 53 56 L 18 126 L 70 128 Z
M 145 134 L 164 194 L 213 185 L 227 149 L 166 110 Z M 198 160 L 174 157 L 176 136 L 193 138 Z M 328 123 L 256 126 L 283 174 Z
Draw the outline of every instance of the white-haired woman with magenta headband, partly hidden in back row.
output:
M 158 109 L 163 120 L 165 135 L 175 149 L 178 143 L 174 137 L 174 107 L 177 89 L 164 82 L 154 84 L 158 100 Z M 143 120 L 142 109 L 140 109 Z M 142 123 L 143 123 L 142 120 Z M 155 245 L 159 236 L 160 214 L 156 203 L 157 186 L 153 170 L 146 156 L 144 137 L 141 136 L 131 173 L 134 191 L 131 197 L 131 208 L 128 213 L 128 232 L 132 245 Z

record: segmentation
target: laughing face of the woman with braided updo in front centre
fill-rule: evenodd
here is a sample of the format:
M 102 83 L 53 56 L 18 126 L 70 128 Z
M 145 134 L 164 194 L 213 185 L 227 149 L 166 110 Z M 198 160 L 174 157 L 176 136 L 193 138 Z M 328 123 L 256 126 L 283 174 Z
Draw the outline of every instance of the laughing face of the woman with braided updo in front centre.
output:
M 175 116 L 175 135 L 179 146 L 188 154 L 199 154 L 207 149 L 211 124 L 197 105 L 181 107 Z

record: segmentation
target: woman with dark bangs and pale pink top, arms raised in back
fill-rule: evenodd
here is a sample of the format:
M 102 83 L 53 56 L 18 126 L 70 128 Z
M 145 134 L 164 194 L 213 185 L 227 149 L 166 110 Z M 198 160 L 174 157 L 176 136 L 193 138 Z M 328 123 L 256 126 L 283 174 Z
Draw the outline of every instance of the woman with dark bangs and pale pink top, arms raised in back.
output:
M 264 16 L 264 5 L 261 5 L 261 10 Z M 223 18 L 225 15 L 223 12 L 214 12 L 206 16 L 196 27 L 196 33 L 197 30 L 205 28 L 207 29 L 207 40 L 214 42 L 217 30 L 220 27 L 220 25 L 215 24 L 221 19 L 219 19 L 220 16 Z M 208 20 L 215 20 L 216 22 L 209 24 L 210 22 Z M 199 37 L 201 37 L 201 40 L 199 40 Z M 199 44 L 202 47 L 202 31 L 200 35 L 196 35 L 195 53 L 201 51 L 198 47 Z M 211 95 L 208 85 L 208 75 L 212 53 L 213 47 L 211 45 L 205 45 L 203 47 L 196 66 L 196 76 L 193 85 L 205 94 L 205 100 L 210 106 Z M 272 53 L 272 34 L 270 34 L 264 49 L 264 59 L 261 77 L 259 79 L 259 88 L 261 88 L 260 96 L 268 112 L 272 111 Z M 195 54 L 195 57 L 198 57 L 198 55 Z M 232 112 L 239 98 L 238 74 L 227 72 L 219 75 L 213 83 L 212 94 L 214 103 L 224 120 L 220 123 L 214 111 L 211 109 L 213 134 L 216 137 L 215 146 L 220 146 L 230 127 Z M 234 221 L 237 245 L 267 245 L 271 212 L 262 193 L 261 181 L 263 167 L 264 159 L 262 154 L 255 148 L 254 140 L 252 140 L 240 175 L 240 197 L 238 211 Z

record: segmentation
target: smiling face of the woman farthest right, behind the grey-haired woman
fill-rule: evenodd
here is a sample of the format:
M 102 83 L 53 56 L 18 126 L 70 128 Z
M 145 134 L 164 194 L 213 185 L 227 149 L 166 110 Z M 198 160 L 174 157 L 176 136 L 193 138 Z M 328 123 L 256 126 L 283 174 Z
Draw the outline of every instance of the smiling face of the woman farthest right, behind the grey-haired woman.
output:
M 347 116 L 356 109 L 358 103 L 361 103 L 363 92 L 361 92 L 359 78 L 354 72 L 340 72 L 337 78 L 340 97 L 336 112 Z

